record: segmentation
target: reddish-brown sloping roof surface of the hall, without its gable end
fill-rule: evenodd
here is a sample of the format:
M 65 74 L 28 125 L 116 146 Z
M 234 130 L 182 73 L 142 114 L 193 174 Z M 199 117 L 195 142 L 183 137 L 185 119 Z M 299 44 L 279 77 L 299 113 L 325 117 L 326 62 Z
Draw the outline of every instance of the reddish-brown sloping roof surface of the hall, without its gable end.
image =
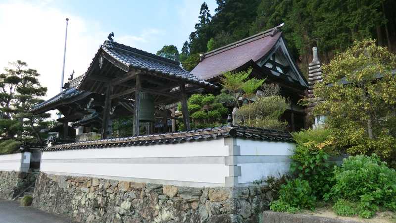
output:
M 274 28 L 208 52 L 191 73 L 209 80 L 223 72 L 235 70 L 250 60 L 257 62 L 271 51 L 281 35 L 282 32 Z

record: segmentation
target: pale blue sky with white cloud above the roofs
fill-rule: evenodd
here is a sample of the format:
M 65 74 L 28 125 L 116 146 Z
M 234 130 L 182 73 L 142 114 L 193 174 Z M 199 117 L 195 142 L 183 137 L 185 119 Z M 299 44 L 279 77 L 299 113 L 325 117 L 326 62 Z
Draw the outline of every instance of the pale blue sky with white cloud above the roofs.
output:
M 211 14 L 215 0 L 205 0 Z M 83 74 L 110 32 L 114 41 L 155 54 L 164 45 L 181 50 L 198 22 L 203 0 L 0 0 L 0 72 L 20 59 L 60 91 L 66 17 L 65 76 Z

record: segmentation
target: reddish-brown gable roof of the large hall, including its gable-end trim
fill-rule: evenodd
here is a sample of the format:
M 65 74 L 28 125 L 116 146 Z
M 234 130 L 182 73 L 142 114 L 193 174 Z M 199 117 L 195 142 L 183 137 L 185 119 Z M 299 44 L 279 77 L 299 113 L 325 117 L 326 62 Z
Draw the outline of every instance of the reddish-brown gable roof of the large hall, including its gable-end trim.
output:
M 275 54 L 275 51 L 281 48 L 288 63 L 297 73 L 297 75 L 286 74 L 288 76 L 286 79 L 289 79 L 291 82 L 297 82 L 303 87 L 307 87 L 307 81 L 290 57 L 282 32 L 278 30 L 281 26 L 282 25 L 205 53 L 191 73 L 204 80 L 214 79 L 222 75 L 223 72 L 236 70 L 250 61 L 259 63 L 263 59 L 269 59 L 267 57 Z M 272 74 L 275 76 L 279 75 L 273 72 Z

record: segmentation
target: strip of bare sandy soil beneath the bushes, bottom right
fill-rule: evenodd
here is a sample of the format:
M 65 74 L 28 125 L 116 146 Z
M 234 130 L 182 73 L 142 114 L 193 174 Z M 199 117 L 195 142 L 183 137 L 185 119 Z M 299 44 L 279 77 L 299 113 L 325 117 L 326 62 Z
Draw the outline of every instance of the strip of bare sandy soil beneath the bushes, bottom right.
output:
M 321 207 L 317 208 L 314 212 L 311 211 L 303 211 L 301 214 L 304 215 L 313 215 L 319 217 L 327 217 L 333 219 L 341 219 L 341 220 L 348 220 L 348 221 L 355 221 L 355 222 L 362 222 L 362 223 L 396 223 L 396 213 L 394 212 L 377 212 L 377 214 L 371 219 L 363 219 L 358 216 L 354 217 L 344 217 L 338 216 L 331 210 L 331 207 Z

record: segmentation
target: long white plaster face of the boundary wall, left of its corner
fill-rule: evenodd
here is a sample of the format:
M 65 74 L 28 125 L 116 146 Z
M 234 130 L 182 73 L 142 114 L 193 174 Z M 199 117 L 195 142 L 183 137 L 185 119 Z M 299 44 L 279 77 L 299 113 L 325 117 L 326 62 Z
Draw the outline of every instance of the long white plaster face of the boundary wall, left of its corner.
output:
M 229 175 L 224 156 L 228 156 L 228 146 L 221 138 L 165 145 L 43 152 L 40 169 L 64 175 L 224 184 L 225 177 Z

